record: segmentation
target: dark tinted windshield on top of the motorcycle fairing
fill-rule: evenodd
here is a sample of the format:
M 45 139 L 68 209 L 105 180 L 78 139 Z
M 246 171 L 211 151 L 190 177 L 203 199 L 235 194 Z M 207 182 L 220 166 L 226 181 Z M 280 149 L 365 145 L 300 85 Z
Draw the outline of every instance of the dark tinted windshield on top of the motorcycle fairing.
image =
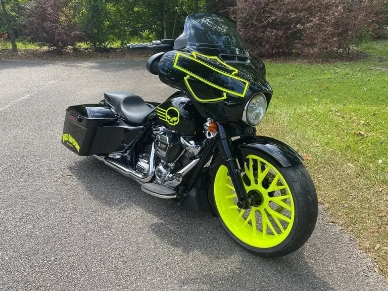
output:
M 243 39 L 233 23 L 214 14 L 192 14 L 184 22 L 183 33 L 175 40 L 174 49 L 187 47 L 202 53 L 213 52 L 246 55 Z

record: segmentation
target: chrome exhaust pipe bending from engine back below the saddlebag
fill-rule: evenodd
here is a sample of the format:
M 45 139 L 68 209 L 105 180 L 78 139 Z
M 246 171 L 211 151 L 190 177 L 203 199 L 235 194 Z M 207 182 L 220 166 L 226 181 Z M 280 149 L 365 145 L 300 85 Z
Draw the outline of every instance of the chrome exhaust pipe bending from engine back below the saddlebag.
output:
M 132 178 L 139 182 L 140 184 L 147 183 L 149 182 L 152 177 L 154 176 L 155 172 L 155 148 L 154 144 L 152 145 L 152 150 L 151 150 L 151 156 L 150 156 L 150 170 L 148 174 L 142 175 L 139 172 L 137 172 L 135 169 L 132 167 L 125 167 L 119 163 L 117 163 L 115 160 L 112 159 L 107 159 L 103 156 L 99 155 L 94 155 L 94 158 L 97 160 L 104 162 L 108 167 L 111 167 L 112 169 L 116 170 L 120 174 L 124 175 L 125 177 Z

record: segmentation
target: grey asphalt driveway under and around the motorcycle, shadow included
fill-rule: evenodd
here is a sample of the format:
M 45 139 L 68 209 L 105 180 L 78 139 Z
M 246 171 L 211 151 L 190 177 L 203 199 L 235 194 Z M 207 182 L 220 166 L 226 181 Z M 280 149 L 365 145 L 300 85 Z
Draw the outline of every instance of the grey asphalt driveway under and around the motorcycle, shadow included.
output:
M 60 143 L 65 109 L 124 89 L 173 89 L 144 60 L 0 61 L 1 290 L 388 290 L 322 210 L 284 258 L 238 247 L 209 212 L 140 190 Z

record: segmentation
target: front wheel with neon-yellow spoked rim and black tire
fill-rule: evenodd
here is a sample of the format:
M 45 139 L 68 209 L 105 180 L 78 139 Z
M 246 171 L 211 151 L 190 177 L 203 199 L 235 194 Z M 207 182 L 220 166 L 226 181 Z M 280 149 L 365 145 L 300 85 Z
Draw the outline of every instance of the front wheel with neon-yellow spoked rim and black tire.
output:
M 226 232 L 248 251 L 266 257 L 295 252 L 309 239 L 318 216 L 309 173 L 302 163 L 284 168 L 254 150 L 245 150 L 243 157 L 243 181 L 254 206 L 237 207 L 228 170 L 218 155 L 210 169 L 210 207 Z

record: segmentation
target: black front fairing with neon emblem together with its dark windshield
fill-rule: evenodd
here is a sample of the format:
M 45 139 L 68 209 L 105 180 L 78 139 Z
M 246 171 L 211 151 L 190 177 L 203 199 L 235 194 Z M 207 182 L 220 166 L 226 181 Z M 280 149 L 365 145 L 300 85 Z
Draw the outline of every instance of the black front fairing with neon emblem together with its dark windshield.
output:
M 160 80 L 184 92 L 200 115 L 217 121 L 239 121 L 249 100 L 272 88 L 265 66 L 249 55 L 234 25 L 213 14 L 189 15 L 174 51 L 159 62 Z

